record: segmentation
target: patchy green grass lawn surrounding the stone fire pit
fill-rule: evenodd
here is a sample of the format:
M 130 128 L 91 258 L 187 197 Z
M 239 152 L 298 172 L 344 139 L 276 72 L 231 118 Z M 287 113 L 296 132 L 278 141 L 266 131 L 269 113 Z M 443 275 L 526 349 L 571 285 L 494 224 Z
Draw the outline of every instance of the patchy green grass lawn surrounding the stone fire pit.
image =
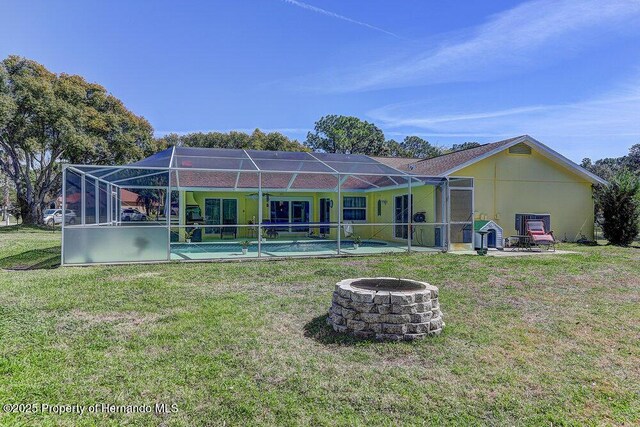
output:
M 58 245 L 0 228 L 0 404 L 178 411 L 3 425 L 640 423 L 640 248 L 51 268 Z M 329 330 L 336 281 L 374 275 L 439 286 L 444 333 Z

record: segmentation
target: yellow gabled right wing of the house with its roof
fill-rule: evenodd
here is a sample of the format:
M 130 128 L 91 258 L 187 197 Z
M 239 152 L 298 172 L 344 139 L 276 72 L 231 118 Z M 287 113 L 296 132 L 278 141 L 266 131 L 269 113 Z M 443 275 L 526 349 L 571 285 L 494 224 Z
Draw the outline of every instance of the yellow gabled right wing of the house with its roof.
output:
M 556 239 L 594 238 L 593 185 L 605 181 L 529 135 L 426 160 L 379 161 L 412 173 L 472 177 L 474 218 L 519 234 L 521 213 L 548 215 Z M 547 230 L 549 231 L 549 230 Z

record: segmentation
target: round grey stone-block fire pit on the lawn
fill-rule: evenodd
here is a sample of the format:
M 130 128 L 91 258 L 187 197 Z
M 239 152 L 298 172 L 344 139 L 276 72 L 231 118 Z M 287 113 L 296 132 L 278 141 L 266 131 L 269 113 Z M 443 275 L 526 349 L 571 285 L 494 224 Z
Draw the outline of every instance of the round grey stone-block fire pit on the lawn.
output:
M 327 322 L 358 338 L 394 341 L 438 335 L 444 328 L 438 288 L 392 277 L 338 282 Z

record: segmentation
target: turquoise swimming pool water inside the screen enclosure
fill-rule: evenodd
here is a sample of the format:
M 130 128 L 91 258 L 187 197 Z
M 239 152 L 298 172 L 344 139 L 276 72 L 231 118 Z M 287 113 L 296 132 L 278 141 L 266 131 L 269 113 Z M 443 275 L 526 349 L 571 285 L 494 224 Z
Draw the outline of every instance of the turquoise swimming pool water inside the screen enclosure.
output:
M 387 246 L 384 242 L 363 241 L 360 247 L 382 247 Z M 341 247 L 348 249 L 353 247 L 353 240 L 342 240 Z M 319 241 L 319 242 L 263 242 L 262 252 L 318 252 L 318 251 L 335 251 L 338 249 L 337 242 Z M 242 245 L 239 243 L 173 243 L 171 245 L 172 252 L 178 253 L 228 253 L 242 252 Z M 248 252 L 258 253 L 258 243 L 252 243 Z

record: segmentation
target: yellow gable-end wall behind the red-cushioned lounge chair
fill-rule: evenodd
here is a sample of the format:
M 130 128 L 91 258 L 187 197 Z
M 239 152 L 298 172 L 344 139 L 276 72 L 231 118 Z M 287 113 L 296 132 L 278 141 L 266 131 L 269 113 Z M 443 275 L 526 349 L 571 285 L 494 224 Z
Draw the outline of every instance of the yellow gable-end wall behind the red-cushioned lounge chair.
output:
M 516 213 L 549 213 L 556 239 L 593 239 L 592 184 L 535 148 L 530 155 L 505 150 L 451 176 L 474 178 L 475 218 L 494 220 L 505 237 L 516 234 Z

